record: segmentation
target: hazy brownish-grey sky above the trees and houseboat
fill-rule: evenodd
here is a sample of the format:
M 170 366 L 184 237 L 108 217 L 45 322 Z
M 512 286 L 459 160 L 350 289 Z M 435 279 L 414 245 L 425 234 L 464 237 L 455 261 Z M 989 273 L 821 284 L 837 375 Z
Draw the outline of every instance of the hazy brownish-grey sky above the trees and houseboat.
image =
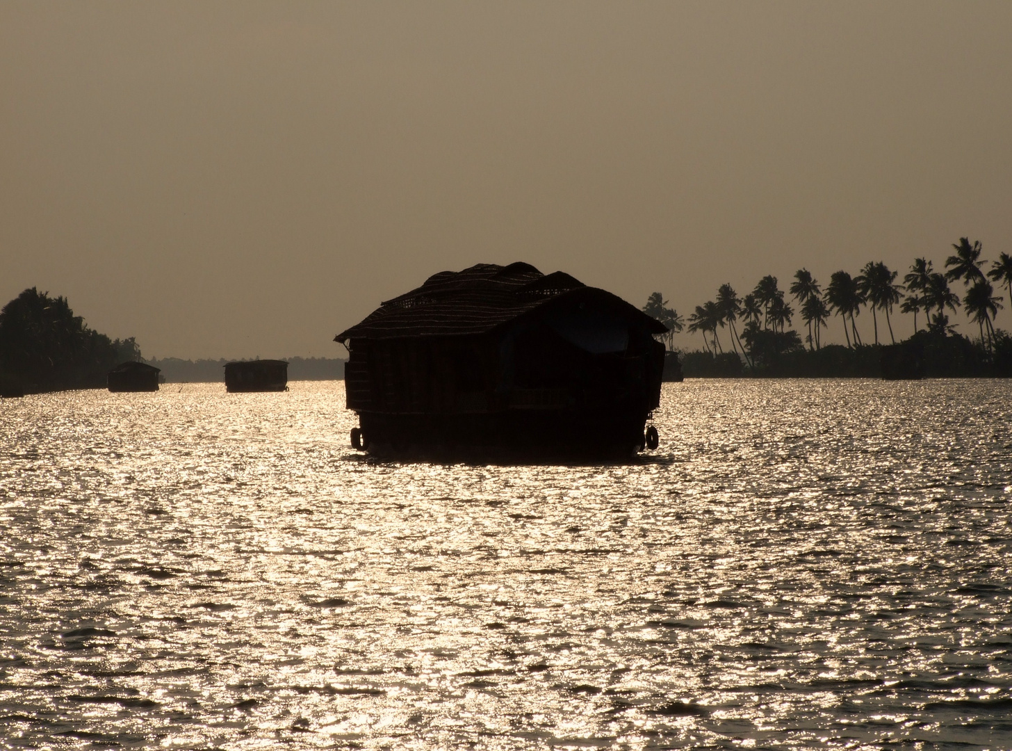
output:
M 0 304 L 147 356 L 343 355 L 480 261 L 688 314 L 961 235 L 1012 251 L 1012 2 L 0 2 Z

